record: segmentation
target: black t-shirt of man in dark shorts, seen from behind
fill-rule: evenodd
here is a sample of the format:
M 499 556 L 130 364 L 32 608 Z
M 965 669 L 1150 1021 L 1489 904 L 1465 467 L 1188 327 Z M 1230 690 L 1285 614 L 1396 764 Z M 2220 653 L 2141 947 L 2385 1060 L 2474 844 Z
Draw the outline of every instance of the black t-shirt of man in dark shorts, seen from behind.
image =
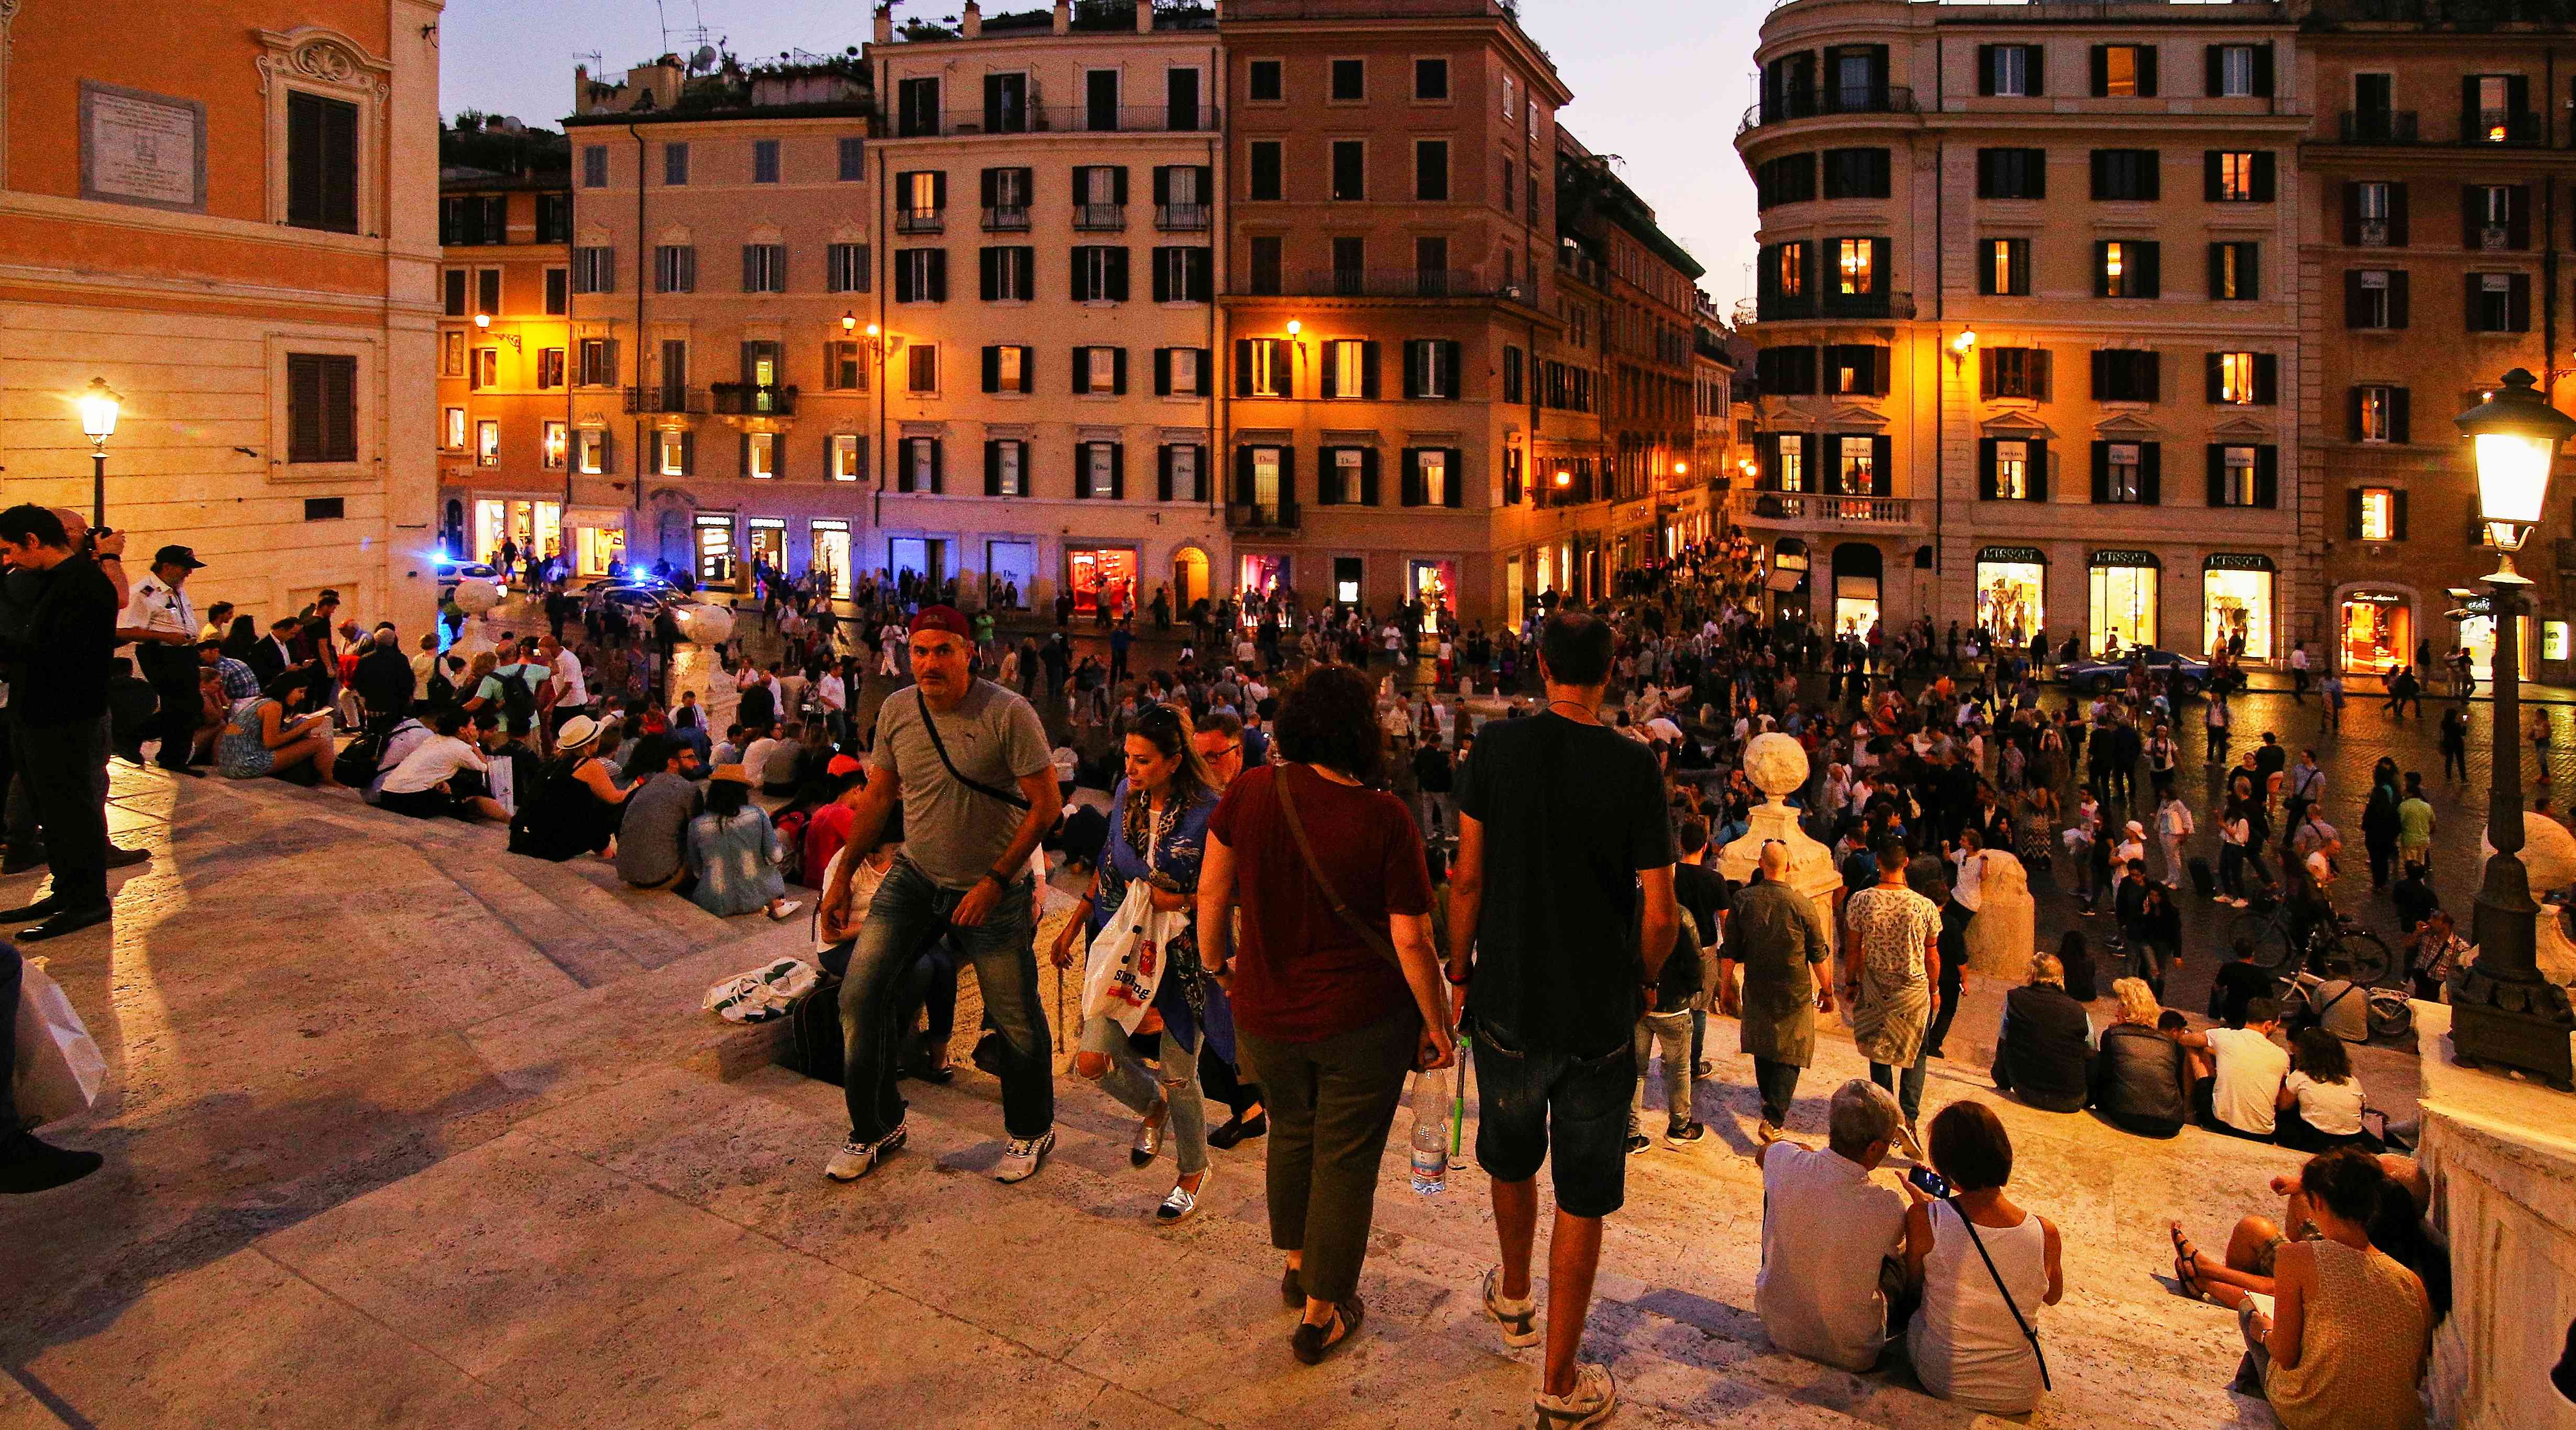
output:
M 1597 1056 L 1636 1028 L 1641 868 L 1672 863 L 1654 752 L 1558 714 L 1494 721 L 1458 770 L 1484 825 L 1468 1013 L 1522 1051 Z

